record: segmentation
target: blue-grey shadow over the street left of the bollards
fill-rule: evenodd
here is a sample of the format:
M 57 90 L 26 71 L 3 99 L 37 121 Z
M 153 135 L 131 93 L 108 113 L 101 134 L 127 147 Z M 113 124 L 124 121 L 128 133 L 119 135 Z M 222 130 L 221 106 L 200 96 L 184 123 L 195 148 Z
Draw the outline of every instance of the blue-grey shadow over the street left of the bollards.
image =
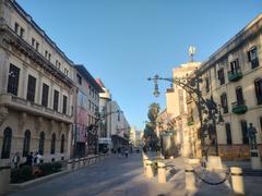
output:
M 103 195 L 105 193 L 110 195 L 110 192 L 115 195 L 118 189 L 121 194 L 123 191 L 121 186 L 130 186 L 129 183 L 138 181 L 138 176 L 142 174 L 142 162 L 135 161 L 135 159 L 141 160 L 139 158 L 138 156 L 128 159 L 112 157 L 106 164 L 98 162 L 13 195 Z M 146 182 L 141 181 L 136 192 L 147 193 Z

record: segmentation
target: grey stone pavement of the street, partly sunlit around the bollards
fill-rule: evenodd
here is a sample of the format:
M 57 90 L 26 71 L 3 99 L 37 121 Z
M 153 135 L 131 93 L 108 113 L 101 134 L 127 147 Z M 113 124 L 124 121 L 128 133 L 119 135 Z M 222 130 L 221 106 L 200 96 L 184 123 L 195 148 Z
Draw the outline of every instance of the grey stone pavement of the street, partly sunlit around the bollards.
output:
M 181 195 L 231 195 L 229 183 L 211 186 L 198 183 L 198 191 L 184 191 L 184 159 L 164 160 L 172 167 L 168 182 L 158 184 L 157 179 L 145 179 L 142 168 L 142 157 L 132 154 L 129 158 L 112 156 L 106 161 L 73 171 L 50 182 L 38 184 L 23 191 L 10 193 L 12 196 L 52 196 L 52 195 L 85 195 L 85 196 L 181 196 Z M 170 169 L 170 168 L 169 168 Z M 221 176 L 212 176 L 217 181 Z M 245 177 L 247 195 L 261 195 L 262 177 Z

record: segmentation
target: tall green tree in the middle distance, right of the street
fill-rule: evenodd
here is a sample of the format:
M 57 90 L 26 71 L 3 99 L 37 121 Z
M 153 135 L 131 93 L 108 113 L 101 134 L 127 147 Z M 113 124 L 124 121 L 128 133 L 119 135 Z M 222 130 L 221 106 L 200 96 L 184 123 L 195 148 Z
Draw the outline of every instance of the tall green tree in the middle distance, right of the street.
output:
M 151 147 L 153 150 L 157 148 L 158 138 L 156 135 L 156 118 L 160 111 L 158 103 L 153 102 L 147 112 L 148 122 L 145 124 L 144 128 L 144 143 L 145 147 Z

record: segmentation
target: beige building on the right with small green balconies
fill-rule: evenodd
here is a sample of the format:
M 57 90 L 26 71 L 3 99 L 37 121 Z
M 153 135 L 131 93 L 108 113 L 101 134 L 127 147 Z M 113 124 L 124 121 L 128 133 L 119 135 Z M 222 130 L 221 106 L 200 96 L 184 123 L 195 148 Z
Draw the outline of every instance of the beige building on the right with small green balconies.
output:
M 249 159 L 248 127 L 262 130 L 262 14 L 200 66 L 202 95 L 222 107 L 225 123 L 216 125 L 219 155 Z M 198 121 L 198 119 L 196 119 Z

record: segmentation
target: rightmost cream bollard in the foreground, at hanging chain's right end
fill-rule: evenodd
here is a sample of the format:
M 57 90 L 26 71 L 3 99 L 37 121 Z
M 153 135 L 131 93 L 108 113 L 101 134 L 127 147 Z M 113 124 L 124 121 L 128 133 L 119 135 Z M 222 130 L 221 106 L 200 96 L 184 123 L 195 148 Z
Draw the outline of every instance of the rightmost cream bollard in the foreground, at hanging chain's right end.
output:
M 235 195 L 245 195 L 245 185 L 242 177 L 242 169 L 238 167 L 231 167 L 231 186 Z

